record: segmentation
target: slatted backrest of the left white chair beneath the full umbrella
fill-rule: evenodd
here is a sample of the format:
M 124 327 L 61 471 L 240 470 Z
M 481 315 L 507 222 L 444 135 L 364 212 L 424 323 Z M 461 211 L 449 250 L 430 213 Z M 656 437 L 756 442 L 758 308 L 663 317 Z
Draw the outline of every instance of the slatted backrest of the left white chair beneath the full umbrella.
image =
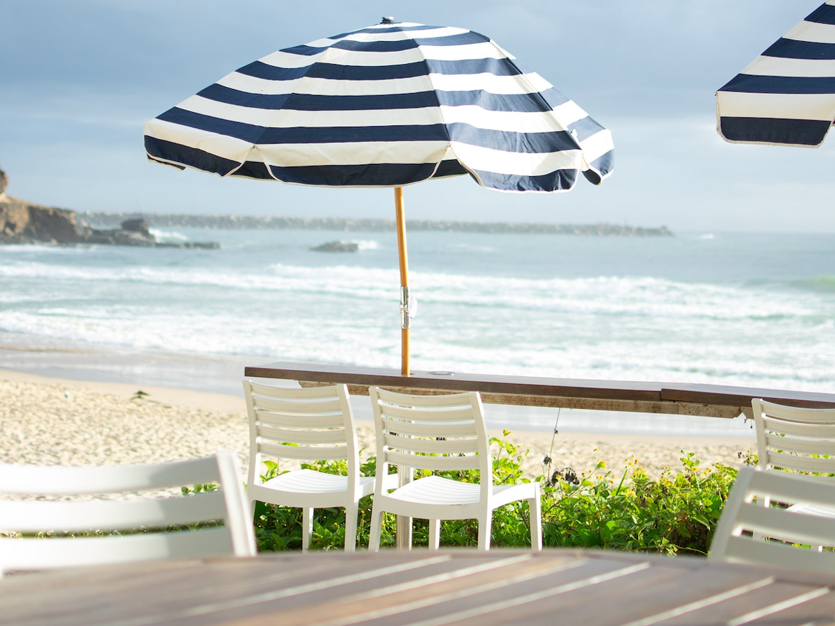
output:
M 345 385 L 288 389 L 244 381 L 250 417 L 249 484 L 260 482 L 265 460 L 347 461 L 359 482 L 357 431 Z

